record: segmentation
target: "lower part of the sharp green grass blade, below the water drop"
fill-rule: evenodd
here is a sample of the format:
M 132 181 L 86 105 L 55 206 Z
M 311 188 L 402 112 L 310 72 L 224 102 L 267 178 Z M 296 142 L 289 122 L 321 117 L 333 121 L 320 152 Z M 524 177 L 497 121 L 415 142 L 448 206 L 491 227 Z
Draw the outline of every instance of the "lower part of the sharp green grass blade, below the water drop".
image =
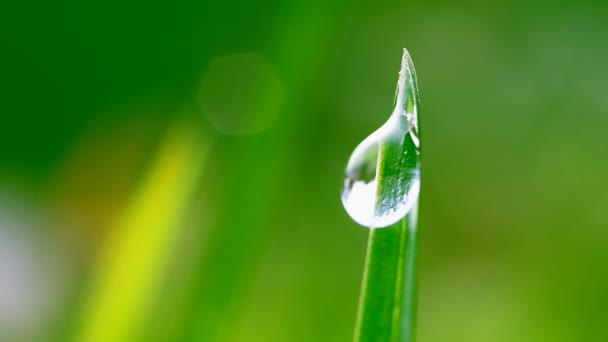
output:
M 417 212 L 370 230 L 355 342 L 415 341 Z

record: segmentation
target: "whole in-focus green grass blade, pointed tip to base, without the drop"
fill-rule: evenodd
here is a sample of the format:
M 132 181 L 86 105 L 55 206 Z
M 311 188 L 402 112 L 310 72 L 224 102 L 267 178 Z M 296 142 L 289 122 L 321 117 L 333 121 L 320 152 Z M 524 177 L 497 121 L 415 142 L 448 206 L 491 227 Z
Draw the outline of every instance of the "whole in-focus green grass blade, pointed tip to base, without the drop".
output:
M 418 89 L 412 61 L 407 51 L 397 88 L 395 113 L 418 114 Z M 378 214 L 388 200 L 401 196 L 403 182 L 419 177 L 419 149 L 411 140 L 418 133 L 417 118 L 404 135 L 384 140 L 378 151 L 376 169 Z M 409 139 L 409 140 L 408 140 Z M 416 170 L 411 173 L 408 170 Z M 409 196 L 409 194 L 408 194 Z M 412 196 L 417 196 L 412 194 Z M 388 199 L 388 200 L 387 200 Z M 355 342 L 413 342 L 416 335 L 416 290 L 418 255 L 418 199 L 408 214 L 397 223 L 370 229 Z M 387 204 L 388 203 L 388 204 Z

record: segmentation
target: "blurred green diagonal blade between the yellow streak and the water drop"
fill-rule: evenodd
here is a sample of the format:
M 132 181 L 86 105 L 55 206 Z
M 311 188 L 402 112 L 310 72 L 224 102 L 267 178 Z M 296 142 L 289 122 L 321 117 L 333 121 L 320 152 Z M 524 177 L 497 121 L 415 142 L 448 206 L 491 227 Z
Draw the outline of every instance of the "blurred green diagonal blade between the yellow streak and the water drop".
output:
M 269 55 L 276 60 L 291 94 L 298 94 L 291 100 L 297 102 L 286 104 L 285 113 L 290 119 L 282 126 L 248 138 L 235 152 L 235 163 L 226 170 L 225 178 L 233 181 L 223 189 L 223 200 L 218 200 L 221 226 L 211 230 L 208 248 L 199 260 L 192 304 L 179 329 L 180 340 L 230 341 L 241 333 L 242 322 L 254 321 L 243 318 L 243 306 L 251 296 L 250 284 L 259 277 L 262 257 L 276 239 L 278 227 L 268 222 L 276 217 L 276 207 L 283 201 L 276 196 L 279 189 L 291 185 L 288 163 L 301 159 L 293 156 L 293 149 L 299 139 L 302 143 L 310 139 L 300 134 L 308 115 L 301 109 L 306 108 L 310 90 L 318 81 L 314 71 L 323 63 L 323 47 L 331 46 L 333 35 L 328 32 L 338 30 L 337 14 L 342 3 L 295 1 L 279 16 L 281 29 L 271 38 L 276 49 Z M 315 25 L 310 25 L 311 17 L 315 18 Z M 293 41 L 298 41 L 298 45 L 293 45 Z M 247 205 L 239 205 L 235 214 L 235 203 Z M 249 340 L 264 339 L 251 336 Z

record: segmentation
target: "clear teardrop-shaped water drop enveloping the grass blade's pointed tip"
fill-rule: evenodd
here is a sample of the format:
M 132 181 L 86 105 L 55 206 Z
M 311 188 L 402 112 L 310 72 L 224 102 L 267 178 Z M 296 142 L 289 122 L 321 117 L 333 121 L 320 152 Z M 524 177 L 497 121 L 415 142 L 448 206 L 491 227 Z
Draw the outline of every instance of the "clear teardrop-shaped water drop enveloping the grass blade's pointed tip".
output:
M 394 224 L 418 201 L 418 102 L 416 72 L 404 49 L 395 110 L 382 127 L 355 148 L 346 166 L 342 204 L 363 226 Z

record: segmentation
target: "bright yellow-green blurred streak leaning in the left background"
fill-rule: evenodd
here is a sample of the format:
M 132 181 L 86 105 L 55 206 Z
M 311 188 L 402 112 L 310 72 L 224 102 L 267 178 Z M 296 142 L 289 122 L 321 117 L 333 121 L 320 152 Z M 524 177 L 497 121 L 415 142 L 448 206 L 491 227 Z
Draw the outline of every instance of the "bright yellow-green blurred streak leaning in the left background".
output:
M 207 155 L 208 141 L 175 127 L 101 251 L 76 341 L 132 341 L 159 293 Z

